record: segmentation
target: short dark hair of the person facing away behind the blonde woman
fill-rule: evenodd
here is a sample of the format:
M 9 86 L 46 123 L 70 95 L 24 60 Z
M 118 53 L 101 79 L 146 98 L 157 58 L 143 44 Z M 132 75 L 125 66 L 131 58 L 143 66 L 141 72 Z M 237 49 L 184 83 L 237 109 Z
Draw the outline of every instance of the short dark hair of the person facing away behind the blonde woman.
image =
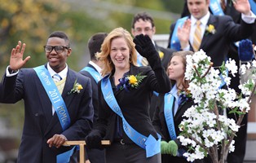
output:
M 90 37 L 88 41 L 88 48 L 90 51 L 90 59 L 95 60 L 96 53 L 100 52 L 101 44 L 104 42 L 105 37 L 108 36 L 108 33 L 95 33 Z

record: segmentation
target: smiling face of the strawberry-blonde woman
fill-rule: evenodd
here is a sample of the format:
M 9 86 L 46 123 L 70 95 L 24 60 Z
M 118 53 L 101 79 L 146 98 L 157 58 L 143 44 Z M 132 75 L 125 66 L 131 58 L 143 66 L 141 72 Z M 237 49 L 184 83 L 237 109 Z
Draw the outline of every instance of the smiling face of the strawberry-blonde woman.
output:
M 110 58 L 116 69 L 130 68 L 130 49 L 124 37 L 117 37 L 112 40 Z

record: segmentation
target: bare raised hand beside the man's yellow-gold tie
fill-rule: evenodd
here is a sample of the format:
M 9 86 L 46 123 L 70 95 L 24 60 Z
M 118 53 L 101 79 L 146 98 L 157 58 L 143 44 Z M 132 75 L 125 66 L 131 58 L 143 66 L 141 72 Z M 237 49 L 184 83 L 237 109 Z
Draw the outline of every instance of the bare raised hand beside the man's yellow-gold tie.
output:
M 189 45 L 189 33 L 191 29 L 191 20 L 185 20 L 182 27 L 178 28 L 177 35 L 182 49 Z

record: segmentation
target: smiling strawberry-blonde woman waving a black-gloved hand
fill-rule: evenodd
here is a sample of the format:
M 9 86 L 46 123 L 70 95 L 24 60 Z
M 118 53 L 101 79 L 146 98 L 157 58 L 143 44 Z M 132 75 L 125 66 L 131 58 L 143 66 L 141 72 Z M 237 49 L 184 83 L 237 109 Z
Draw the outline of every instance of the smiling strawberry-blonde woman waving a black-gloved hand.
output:
M 136 50 L 149 66 L 136 66 Z M 99 81 L 99 119 L 86 136 L 88 148 L 106 148 L 108 163 L 160 163 L 161 136 L 148 115 L 152 91 L 170 91 L 170 80 L 148 35 L 135 39 L 123 28 L 113 29 L 97 55 L 104 62 Z

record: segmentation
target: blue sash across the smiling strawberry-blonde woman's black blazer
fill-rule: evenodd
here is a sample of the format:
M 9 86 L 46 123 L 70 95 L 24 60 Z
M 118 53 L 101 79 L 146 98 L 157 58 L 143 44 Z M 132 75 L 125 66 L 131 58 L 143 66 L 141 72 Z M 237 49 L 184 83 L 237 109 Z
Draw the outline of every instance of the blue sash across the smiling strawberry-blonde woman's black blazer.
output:
M 134 143 L 139 145 L 140 148 L 146 149 L 147 157 L 154 156 L 157 153 L 160 153 L 161 135 L 157 134 L 158 140 L 156 140 L 151 134 L 147 138 L 129 125 L 125 117 L 123 117 L 122 115 L 121 108 L 117 104 L 117 99 L 113 94 L 112 86 L 108 77 L 109 76 L 104 77 L 101 81 L 102 93 L 109 108 L 111 108 L 113 112 L 116 112 L 117 115 L 122 118 L 123 130 L 125 130 L 127 136 Z

